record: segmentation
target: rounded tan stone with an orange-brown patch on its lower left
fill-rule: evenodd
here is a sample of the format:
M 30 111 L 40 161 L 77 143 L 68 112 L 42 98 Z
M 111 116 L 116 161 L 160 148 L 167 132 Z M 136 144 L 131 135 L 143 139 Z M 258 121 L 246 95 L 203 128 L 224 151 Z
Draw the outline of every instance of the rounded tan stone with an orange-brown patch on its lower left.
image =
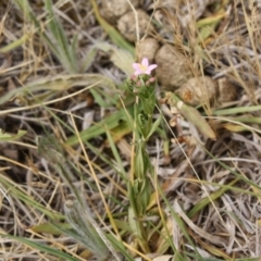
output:
M 217 84 L 208 76 L 192 77 L 176 91 L 183 101 L 191 105 L 211 103 L 217 96 Z

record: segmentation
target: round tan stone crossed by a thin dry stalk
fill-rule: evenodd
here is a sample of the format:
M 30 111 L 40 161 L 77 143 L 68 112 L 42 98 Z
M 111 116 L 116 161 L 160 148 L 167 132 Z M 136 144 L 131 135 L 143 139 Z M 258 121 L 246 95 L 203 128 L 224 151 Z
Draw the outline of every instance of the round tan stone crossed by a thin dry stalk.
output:
M 149 15 L 142 10 L 136 10 L 139 25 L 139 38 L 141 39 L 145 34 L 150 34 L 153 26 L 150 23 Z M 149 26 L 149 27 L 148 27 Z M 137 29 L 135 13 L 133 11 L 127 12 L 117 21 L 117 28 L 121 34 L 129 41 L 137 40 Z M 148 30 L 147 30 L 148 29 Z

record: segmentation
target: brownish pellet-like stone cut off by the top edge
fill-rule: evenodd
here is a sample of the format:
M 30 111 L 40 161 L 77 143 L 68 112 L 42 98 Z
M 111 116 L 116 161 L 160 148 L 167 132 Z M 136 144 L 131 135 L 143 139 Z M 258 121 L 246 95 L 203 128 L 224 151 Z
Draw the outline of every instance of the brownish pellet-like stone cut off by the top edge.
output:
M 132 4 L 137 8 L 139 1 L 132 0 Z M 126 0 L 103 0 L 101 2 L 101 15 L 110 24 L 116 24 L 117 20 L 130 10 L 132 7 Z

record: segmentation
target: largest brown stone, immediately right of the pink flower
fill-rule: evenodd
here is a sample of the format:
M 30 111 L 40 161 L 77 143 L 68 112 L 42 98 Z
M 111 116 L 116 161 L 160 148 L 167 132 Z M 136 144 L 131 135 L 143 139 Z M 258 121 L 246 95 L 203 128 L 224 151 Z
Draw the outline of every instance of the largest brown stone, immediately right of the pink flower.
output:
M 165 90 L 176 90 L 188 78 L 194 77 L 188 59 L 174 47 L 164 45 L 156 54 L 157 77 Z

